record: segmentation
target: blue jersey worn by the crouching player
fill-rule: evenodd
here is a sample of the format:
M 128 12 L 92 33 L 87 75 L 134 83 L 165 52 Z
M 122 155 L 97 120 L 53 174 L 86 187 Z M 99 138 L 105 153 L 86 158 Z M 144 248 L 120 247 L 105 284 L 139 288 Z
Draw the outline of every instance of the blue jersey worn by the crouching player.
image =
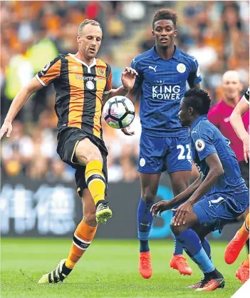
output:
M 202 179 L 209 173 L 209 167 L 205 162 L 207 156 L 217 153 L 224 169 L 217 183 L 207 195 L 215 192 L 241 192 L 246 190 L 246 184 L 241 178 L 239 163 L 234 151 L 230 148 L 229 139 L 207 120 L 207 115 L 200 115 L 191 125 L 192 158 Z

